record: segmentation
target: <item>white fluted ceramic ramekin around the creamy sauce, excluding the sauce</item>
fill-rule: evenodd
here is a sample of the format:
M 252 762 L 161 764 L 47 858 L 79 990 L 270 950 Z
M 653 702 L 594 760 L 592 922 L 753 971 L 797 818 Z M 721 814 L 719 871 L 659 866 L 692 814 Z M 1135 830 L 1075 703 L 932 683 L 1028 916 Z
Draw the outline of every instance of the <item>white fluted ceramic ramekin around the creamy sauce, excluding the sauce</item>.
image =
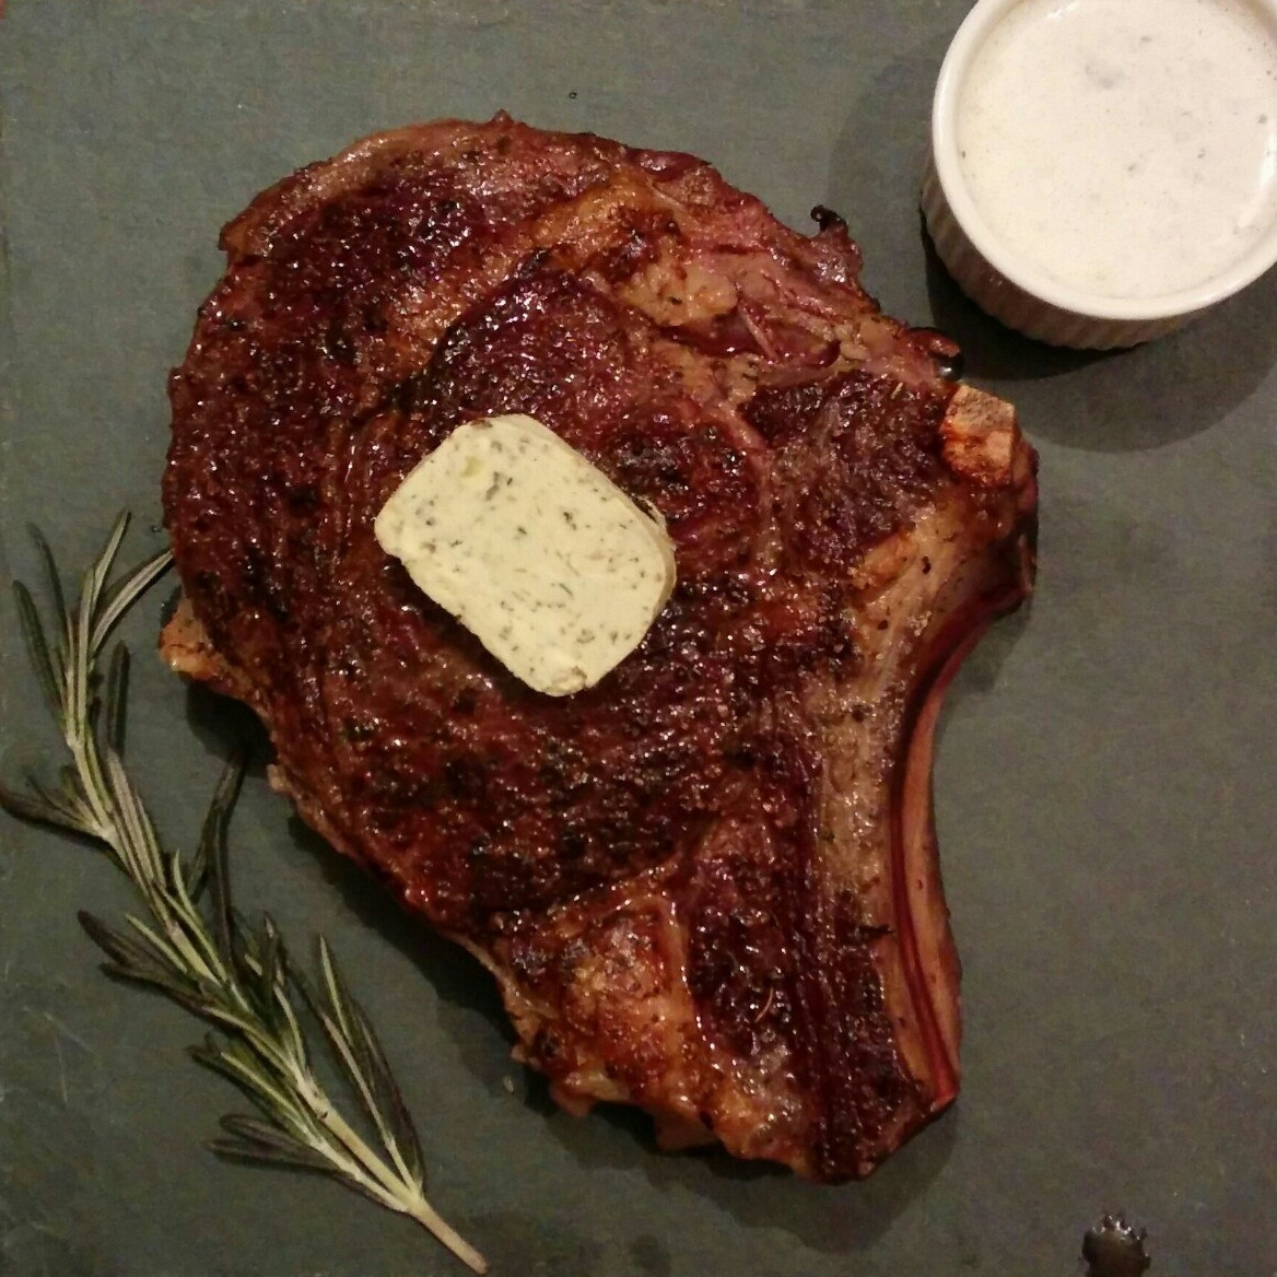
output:
M 1277 262 L 1277 222 L 1205 283 L 1160 298 L 1103 298 L 1061 285 L 1010 253 L 972 199 L 958 153 L 967 75 L 990 32 L 1023 0 L 979 0 L 958 28 L 936 82 L 931 151 L 922 181 L 927 230 L 949 273 L 982 310 L 1054 346 L 1110 350 L 1174 332 L 1239 292 Z M 1251 0 L 1277 28 L 1277 0 Z

